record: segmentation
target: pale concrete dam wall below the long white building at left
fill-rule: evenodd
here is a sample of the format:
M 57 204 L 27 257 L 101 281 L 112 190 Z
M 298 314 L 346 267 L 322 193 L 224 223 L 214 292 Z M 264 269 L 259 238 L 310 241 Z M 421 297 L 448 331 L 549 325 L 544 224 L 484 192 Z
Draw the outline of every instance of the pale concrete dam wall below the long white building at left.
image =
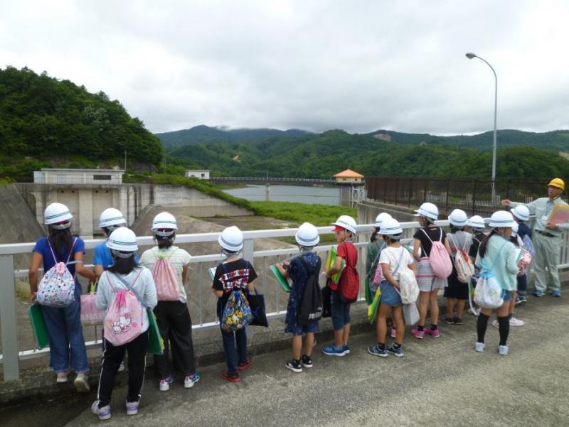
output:
M 180 185 L 18 183 L 15 188 L 39 224 L 43 224 L 43 211 L 50 203 L 67 205 L 74 217 L 71 231 L 84 238 L 100 232 L 99 216 L 107 207 L 119 209 L 128 225 L 145 206 L 154 204 L 191 217 L 251 215 L 248 210 Z

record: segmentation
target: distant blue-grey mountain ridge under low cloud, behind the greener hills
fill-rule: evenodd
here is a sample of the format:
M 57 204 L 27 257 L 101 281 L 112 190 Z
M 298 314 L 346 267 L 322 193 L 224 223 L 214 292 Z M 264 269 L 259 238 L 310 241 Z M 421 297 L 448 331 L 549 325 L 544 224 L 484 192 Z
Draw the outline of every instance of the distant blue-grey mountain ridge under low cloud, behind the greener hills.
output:
M 310 132 L 299 129 L 223 129 L 201 124 L 191 129 L 156 134 L 164 147 L 180 147 L 200 142 L 257 142 L 272 136 L 306 136 Z

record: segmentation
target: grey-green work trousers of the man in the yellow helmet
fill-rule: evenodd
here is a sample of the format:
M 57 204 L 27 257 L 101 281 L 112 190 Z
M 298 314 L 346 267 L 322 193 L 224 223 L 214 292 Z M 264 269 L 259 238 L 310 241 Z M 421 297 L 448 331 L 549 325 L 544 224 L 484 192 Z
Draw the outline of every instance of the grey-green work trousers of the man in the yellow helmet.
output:
M 548 288 L 552 291 L 560 290 L 559 273 L 559 237 L 547 237 L 538 232 L 533 233 L 533 246 L 536 254 L 533 256 L 533 271 L 536 272 L 536 291 L 545 292 Z

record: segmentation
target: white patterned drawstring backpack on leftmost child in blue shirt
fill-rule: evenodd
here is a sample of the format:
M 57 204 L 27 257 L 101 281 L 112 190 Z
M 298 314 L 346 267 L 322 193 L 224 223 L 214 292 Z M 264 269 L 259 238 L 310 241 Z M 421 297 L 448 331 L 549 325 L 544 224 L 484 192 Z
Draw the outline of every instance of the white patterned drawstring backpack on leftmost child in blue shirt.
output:
M 41 278 L 38 286 L 36 299 L 42 306 L 63 308 L 75 301 L 75 277 L 67 268 L 70 264 L 77 264 L 78 261 L 69 261 L 73 253 L 73 247 L 77 238 L 73 239 L 73 244 L 69 250 L 67 261 L 58 262 L 55 252 L 48 239 L 48 247 L 53 255 L 55 265 L 51 267 Z

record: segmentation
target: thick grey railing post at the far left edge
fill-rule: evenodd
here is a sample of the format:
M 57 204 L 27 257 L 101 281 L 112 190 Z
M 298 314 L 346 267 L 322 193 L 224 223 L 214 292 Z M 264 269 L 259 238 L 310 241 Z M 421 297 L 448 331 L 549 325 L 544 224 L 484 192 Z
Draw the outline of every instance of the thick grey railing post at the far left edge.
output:
M 16 287 L 14 255 L 0 255 L 0 325 L 4 381 L 20 377 L 18 366 L 18 323 L 16 321 Z

